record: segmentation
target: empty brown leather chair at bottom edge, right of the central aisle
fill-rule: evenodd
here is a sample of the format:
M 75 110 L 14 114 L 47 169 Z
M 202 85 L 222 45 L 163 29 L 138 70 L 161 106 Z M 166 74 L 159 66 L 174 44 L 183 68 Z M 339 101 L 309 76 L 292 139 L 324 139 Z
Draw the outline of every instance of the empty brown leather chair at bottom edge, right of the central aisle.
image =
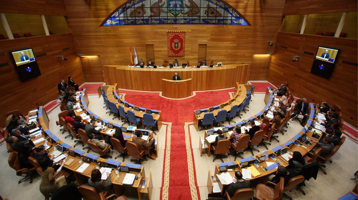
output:
M 267 182 L 266 182 L 267 183 Z M 255 199 L 257 200 L 279 200 L 284 193 L 284 178 L 281 177 L 280 182 L 271 188 L 264 184 L 258 184 L 255 190 Z

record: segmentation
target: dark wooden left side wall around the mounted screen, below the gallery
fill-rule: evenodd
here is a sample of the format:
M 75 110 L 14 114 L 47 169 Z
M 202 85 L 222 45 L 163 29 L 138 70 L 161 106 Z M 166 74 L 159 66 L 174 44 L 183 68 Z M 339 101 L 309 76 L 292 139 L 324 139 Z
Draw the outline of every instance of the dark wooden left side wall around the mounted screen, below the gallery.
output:
M 0 91 L 3 92 L 0 97 L 1 122 L 5 121 L 9 111 L 19 109 L 26 114 L 35 107 L 35 103 L 44 105 L 56 99 L 59 96 L 57 84 L 61 79 L 68 80 L 67 77 L 72 76 L 77 84 L 84 82 L 71 34 L 3 40 L 0 46 L 0 64 L 9 64 L 0 67 Z M 9 52 L 25 48 L 33 48 L 35 56 L 47 55 L 36 57 L 41 75 L 21 82 Z M 65 48 L 69 49 L 63 51 Z M 62 60 L 57 55 L 64 55 L 68 60 Z

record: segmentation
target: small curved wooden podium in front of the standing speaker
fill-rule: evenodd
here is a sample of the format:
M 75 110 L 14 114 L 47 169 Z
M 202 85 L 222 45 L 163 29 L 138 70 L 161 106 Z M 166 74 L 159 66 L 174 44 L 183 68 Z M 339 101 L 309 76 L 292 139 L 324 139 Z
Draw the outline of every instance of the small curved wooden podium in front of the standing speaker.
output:
M 162 95 L 169 98 L 184 98 L 192 95 L 192 79 L 186 79 L 183 81 L 171 81 L 168 79 L 161 79 L 162 83 Z

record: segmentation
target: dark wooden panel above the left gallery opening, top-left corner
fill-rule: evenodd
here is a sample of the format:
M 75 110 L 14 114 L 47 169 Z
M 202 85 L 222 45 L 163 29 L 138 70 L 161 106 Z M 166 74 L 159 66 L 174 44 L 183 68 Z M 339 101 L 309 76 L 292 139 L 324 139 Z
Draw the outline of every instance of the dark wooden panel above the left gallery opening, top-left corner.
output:
M 63 0 L 0 0 L 0 5 L 0 13 L 66 15 L 66 7 Z

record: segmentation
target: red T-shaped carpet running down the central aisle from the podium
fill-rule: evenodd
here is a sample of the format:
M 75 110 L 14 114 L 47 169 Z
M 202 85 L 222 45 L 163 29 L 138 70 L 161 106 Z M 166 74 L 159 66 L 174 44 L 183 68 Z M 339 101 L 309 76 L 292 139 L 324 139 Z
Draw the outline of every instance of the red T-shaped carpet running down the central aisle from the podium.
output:
M 125 100 L 136 106 L 161 110 L 163 121 L 172 122 L 170 137 L 169 189 L 167 199 L 192 199 L 189 186 L 188 157 L 185 143 L 185 122 L 193 121 L 193 111 L 195 109 L 216 106 L 218 102 L 227 101 L 230 98 L 229 92 L 233 91 L 234 89 L 197 92 L 196 96 L 183 100 L 165 99 L 160 97 L 159 93 L 153 92 L 118 91 L 118 93 L 126 93 Z M 208 98 L 209 96 L 211 98 Z M 191 144 L 189 145 L 193 157 Z M 194 159 L 193 165 L 195 165 Z M 195 167 L 193 179 L 197 190 L 197 198 L 200 199 L 199 189 L 196 182 Z M 162 185 L 164 185 L 164 178 Z M 163 188 L 161 189 L 161 192 L 162 191 Z M 161 195 L 161 198 L 162 197 L 163 196 Z

